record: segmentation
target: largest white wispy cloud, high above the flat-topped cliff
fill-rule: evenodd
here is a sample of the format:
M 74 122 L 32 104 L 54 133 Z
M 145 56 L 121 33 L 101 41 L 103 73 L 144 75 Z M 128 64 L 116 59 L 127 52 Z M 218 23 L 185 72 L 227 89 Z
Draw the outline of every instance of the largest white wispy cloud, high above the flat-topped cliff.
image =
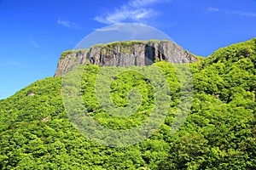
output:
M 150 8 L 150 6 L 167 1 L 172 0 L 131 0 L 115 8 L 113 13 L 97 15 L 94 20 L 104 24 L 119 24 L 123 22 L 143 23 L 144 20 L 160 14 L 158 11 Z

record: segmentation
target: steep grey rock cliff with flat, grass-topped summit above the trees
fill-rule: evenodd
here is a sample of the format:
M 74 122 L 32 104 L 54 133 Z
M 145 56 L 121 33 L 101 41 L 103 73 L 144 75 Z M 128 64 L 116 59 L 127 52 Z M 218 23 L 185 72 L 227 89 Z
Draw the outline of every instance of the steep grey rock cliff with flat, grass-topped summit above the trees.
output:
M 92 64 L 100 66 L 145 66 L 155 60 L 170 63 L 192 63 L 194 55 L 170 41 L 132 41 L 100 44 L 90 49 L 66 51 L 61 54 L 55 77 L 73 71 L 78 65 Z

